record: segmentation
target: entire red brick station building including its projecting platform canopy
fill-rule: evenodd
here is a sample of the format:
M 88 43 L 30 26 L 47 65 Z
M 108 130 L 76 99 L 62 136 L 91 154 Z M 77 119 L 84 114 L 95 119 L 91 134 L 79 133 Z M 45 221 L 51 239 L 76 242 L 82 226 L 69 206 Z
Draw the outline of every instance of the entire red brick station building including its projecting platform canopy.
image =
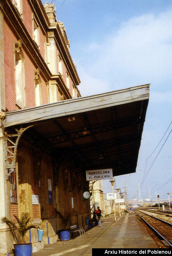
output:
M 2 0 L 0 24 L 0 218 L 29 212 L 44 230 L 41 242 L 36 229 L 27 232 L 34 252 L 64 228 L 56 210 L 71 213 L 68 227 L 87 229 L 86 170 L 136 172 L 149 84 L 81 97 L 53 4 Z M 0 222 L 2 256 L 19 242 L 11 231 Z

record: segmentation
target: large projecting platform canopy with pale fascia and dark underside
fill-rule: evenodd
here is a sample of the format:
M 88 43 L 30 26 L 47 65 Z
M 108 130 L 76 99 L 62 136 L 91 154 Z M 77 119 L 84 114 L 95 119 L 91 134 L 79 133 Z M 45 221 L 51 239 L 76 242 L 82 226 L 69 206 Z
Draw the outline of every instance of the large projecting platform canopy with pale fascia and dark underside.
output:
M 4 126 L 9 136 L 26 129 L 23 140 L 73 168 L 112 168 L 117 176 L 136 172 L 148 100 L 144 84 L 8 112 Z

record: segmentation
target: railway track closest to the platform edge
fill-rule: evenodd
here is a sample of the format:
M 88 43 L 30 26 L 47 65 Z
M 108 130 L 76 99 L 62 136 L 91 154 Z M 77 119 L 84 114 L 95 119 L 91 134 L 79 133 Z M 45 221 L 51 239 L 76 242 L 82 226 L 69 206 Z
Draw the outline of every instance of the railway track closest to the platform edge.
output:
M 152 229 L 152 231 L 162 241 L 166 241 L 168 246 L 172 248 L 172 224 L 161 220 L 157 217 L 151 216 L 148 213 L 140 210 L 134 210 L 134 212 L 146 223 L 146 225 Z

